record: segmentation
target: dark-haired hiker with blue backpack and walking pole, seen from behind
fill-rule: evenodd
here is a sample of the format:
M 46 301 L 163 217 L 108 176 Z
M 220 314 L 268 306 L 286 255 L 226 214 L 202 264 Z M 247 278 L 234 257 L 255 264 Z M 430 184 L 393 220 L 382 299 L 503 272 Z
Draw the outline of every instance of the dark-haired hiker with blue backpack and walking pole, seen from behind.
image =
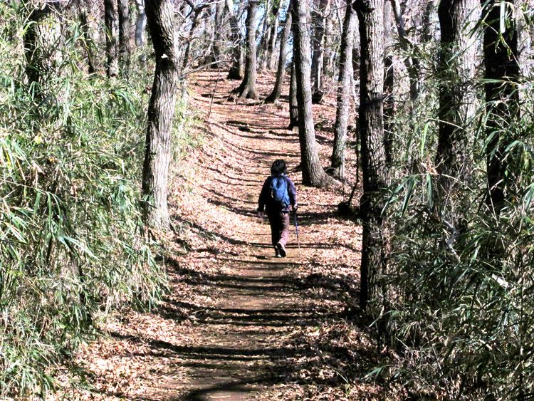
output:
M 263 182 L 258 200 L 258 216 L 263 218 L 263 209 L 265 209 L 277 258 L 286 257 L 289 209 L 291 207 L 293 212 L 297 210 L 297 190 L 287 173 L 286 162 L 281 159 L 275 160 L 271 166 L 271 176 Z

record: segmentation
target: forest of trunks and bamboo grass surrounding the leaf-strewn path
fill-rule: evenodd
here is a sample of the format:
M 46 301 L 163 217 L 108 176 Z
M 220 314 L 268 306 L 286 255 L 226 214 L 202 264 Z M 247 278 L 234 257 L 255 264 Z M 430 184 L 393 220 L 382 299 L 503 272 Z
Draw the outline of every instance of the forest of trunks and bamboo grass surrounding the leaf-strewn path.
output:
M 46 395 L 110 311 L 157 306 L 169 163 L 201 142 L 187 78 L 218 68 L 243 78 L 231 101 L 258 98 L 256 72 L 294 81 L 304 184 L 361 170 L 360 205 L 339 205 L 363 228 L 351 318 L 394 351 L 367 379 L 532 397 L 533 19 L 500 0 L 2 2 L 1 395 Z

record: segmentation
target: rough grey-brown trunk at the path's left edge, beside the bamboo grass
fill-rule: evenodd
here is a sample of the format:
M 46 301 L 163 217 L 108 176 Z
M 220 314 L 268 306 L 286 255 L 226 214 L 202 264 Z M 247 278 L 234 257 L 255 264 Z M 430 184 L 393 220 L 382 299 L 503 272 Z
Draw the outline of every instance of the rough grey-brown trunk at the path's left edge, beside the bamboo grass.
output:
M 172 0 L 147 0 L 147 19 L 156 56 L 152 95 L 148 105 L 142 194 L 145 222 L 167 229 L 167 182 L 171 159 L 171 132 L 178 88 L 178 60 L 174 38 Z

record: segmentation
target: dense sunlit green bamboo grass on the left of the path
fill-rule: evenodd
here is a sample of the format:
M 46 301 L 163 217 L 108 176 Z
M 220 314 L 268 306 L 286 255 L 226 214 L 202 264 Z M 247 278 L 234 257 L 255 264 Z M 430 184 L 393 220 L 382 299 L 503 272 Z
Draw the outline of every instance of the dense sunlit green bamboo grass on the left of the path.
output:
M 145 75 L 88 76 L 71 29 L 40 100 L 24 74 L 23 16 L 0 15 L 0 397 L 26 398 L 53 387 L 51 365 L 110 309 L 154 305 L 166 274 L 138 208 Z

